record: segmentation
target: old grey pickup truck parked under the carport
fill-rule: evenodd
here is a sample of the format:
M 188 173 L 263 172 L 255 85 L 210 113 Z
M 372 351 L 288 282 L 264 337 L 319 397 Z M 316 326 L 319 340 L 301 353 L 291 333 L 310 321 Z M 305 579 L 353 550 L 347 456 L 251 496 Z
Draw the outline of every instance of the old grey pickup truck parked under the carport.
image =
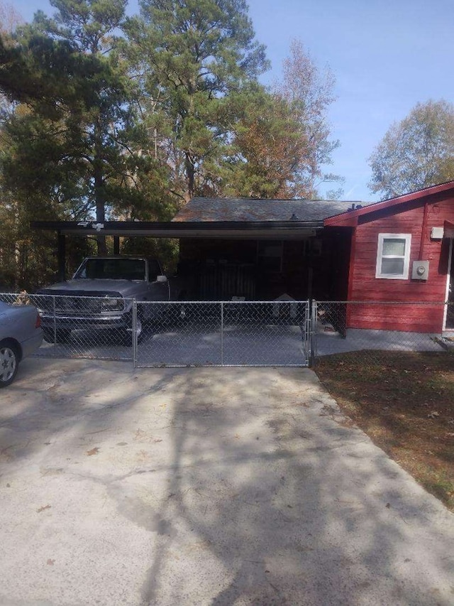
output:
M 72 280 L 41 288 L 38 299 L 44 339 L 66 342 L 72 330 L 113 329 L 132 342 L 133 300 L 176 301 L 181 291 L 162 273 L 156 259 L 142 256 L 94 256 L 82 261 Z M 167 306 L 140 305 L 135 330 L 162 320 Z

